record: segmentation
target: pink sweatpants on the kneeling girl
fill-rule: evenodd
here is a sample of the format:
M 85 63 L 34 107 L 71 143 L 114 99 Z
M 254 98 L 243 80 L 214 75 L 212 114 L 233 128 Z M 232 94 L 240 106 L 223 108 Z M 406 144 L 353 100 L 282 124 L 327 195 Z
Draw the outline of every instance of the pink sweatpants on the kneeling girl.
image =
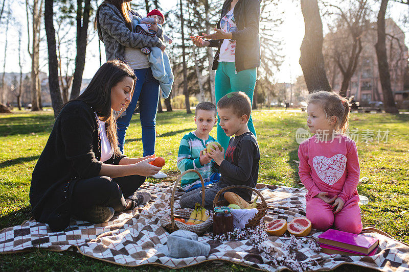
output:
M 354 195 L 342 210 L 334 214 L 332 205 L 318 197 L 307 199 L 306 214 L 312 223 L 312 228 L 326 231 L 332 226 L 336 230 L 358 234 L 362 230 L 361 210 L 358 205 L 359 196 Z

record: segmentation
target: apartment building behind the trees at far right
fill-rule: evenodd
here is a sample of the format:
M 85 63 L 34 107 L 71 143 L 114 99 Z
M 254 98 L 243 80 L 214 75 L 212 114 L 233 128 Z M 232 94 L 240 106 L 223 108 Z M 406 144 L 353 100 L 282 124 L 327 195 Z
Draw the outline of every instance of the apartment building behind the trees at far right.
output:
M 385 30 L 387 33 L 387 54 L 389 71 L 391 74 L 391 87 L 395 94 L 395 102 L 399 108 L 407 108 L 408 105 L 408 48 L 405 45 L 405 34 L 392 19 L 385 20 Z M 343 31 L 337 31 L 324 37 L 324 43 L 330 44 L 333 35 L 340 35 Z M 377 42 L 376 23 L 371 24 L 371 28 L 362 38 L 362 52 L 359 56 L 358 66 L 349 84 L 347 96 L 355 96 L 355 100 L 365 106 L 370 101 L 383 101 L 382 86 L 379 79 L 378 60 L 376 57 L 375 44 Z M 342 73 L 331 57 L 330 52 L 326 52 L 329 46 L 323 47 L 327 76 L 333 90 L 338 90 L 342 84 Z

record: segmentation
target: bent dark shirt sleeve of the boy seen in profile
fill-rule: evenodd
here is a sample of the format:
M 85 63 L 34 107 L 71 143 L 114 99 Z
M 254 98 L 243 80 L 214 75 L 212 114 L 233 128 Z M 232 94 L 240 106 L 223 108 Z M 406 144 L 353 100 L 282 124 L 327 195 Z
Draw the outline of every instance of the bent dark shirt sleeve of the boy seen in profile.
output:
M 254 154 L 257 150 L 256 145 L 250 140 L 242 140 L 240 148 L 237 150 L 237 166 L 223 160 L 220 164 L 220 174 L 227 180 L 236 180 L 242 182 L 239 184 L 247 185 L 247 181 L 252 174 Z

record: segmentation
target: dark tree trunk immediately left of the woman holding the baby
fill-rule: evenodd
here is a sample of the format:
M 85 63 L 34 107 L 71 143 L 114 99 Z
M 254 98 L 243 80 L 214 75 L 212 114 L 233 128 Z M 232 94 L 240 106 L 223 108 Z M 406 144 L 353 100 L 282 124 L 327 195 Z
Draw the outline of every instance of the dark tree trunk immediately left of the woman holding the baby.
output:
M 82 0 L 77 0 L 77 56 L 75 57 L 73 88 L 70 96 L 71 100 L 78 97 L 81 89 L 82 74 L 85 66 L 89 15 L 91 12 L 90 2 L 91 0 L 85 0 L 84 10 L 82 10 Z

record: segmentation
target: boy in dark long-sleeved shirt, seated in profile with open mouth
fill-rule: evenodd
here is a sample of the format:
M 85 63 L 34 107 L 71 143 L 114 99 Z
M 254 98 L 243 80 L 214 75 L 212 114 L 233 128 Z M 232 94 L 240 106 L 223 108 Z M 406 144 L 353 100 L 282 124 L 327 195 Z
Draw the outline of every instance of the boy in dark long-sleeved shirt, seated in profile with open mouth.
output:
M 255 188 L 259 173 L 260 149 L 257 139 L 247 128 L 247 121 L 252 112 L 251 102 L 244 92 L 231 92 L 224 95 L 217 103 L 217 113 L 220 118 L 220 127 L 230 139 L 228 149 L 224 156 L 224 149 L 207 149 L 219 168 L 221 178 L 218 183 L 208 185 L 205 189 L 206 209 L 212 209 L 216 193 L 230 185 L 247 185 Z M 233 188 L 229 191 L 240 195 L 244 200 L 250 201 L 252 191 Z M 201 203 L 202 189 L 198 188 L 180 197 L 182 208 L 194 208 L 195 203 Z

